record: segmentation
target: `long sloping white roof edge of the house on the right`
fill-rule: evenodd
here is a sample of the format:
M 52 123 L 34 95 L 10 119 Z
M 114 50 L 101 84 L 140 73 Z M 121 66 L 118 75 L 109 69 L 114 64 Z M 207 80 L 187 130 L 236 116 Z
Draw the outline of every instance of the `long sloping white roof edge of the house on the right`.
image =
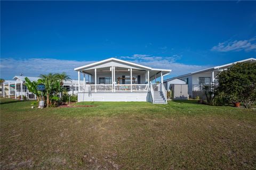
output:
M 239 63 L 239 62 L 256 62 L 255 58 L 249 58 L 249 59 L 245 59 L 245 60 L 240 60 L 240 61 L 236 61 L 236 62 L 231 62 L 228 64 L 223 64 L 221 66 L 215 66 L 215 67 L 210 67 L 210 68 L 206 68 L 203 70 L 198 70 L 198 71 L 194 71 L 194 72 L 190 72 L 189 74 L 185 74 L 185 75 L 180 75 L 180 76 L 176 76 L 176 77 L 172 77 L 166 80 L 173 80 L 175 78 L 180 78 L 180 77 L 185 77 L 185 76 L 190 76 L 190 75 L 195 75 L 195 74 L 199 74 L 201 72 L 206 72 L 206 71 L 212 71 L 212 70 L 218 70 L 218 69 L 223 69 L 223 68 L 227 68 L 229 66 L 232 66 L 233 64 Z M 165 80 L 165 81 L 166 81 Z

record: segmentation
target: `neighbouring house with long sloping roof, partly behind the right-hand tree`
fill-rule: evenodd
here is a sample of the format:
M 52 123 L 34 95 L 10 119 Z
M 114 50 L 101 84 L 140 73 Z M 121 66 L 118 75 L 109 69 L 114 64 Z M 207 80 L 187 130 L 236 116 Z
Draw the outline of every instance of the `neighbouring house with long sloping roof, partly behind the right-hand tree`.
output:
M 199 92 L 202 92 L 203 85 L 210 85 L 212 83 L 218 84 L 218 73 L 222 70 L 225 70 L 231 67 L 233 64 L 238 62 L 256 62 L 255 58 L 245 59 L 233 63 L 224 64 L 222 66 L 215 66 L 211 68 L 207 68 L 204 70 L 199 70 L 195 72 L 191 72 L 186 75 L 181 75 L 173 78 L 169 78 L 164 80 L 164 82 L 170 82 L 174 79 L 185 80 L 186 84 L 188 84 L 188 94 L 191 98 L 196 98 Z

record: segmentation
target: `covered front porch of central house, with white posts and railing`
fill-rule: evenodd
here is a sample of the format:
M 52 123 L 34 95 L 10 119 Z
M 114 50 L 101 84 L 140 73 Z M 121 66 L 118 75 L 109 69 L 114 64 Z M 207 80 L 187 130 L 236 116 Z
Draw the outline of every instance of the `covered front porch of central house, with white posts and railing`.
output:
M 160 77 L 163 83 L 164 72 L 159 70 L 139 70 L 123 67 L 105 67 L 78 71 L 78 92 L 147 92 L 151 80 Z M 89 82 L 86 82 L 89 80 Z

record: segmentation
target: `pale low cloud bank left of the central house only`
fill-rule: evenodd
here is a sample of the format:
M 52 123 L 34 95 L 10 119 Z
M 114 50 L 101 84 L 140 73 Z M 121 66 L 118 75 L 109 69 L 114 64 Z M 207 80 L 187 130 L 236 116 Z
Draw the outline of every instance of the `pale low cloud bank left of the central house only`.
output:
M 77 79 L 77 72 L 74 68 L 84 66 L 94 61 L 75 61 L 58 59 L 13 59 L 1 58 L 1 78 L 12 79 L 15 75 L 37 77 L 40 74 L 66 72 L 72 78 Z

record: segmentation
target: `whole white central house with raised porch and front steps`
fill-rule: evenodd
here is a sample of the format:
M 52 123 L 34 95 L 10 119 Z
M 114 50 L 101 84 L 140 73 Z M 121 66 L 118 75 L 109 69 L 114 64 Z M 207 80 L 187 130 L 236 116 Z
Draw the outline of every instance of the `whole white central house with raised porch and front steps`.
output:
M 83 84 L 78 87 L 78 102 L 81 101 L 150 101 L 166 103 L 163 77 L 171 72 L 137 63 L 110 58 L 74 69 L 81 73 Z M 85 83 L 89 76 L 90 84 Z M 150 83 L 161 77 L 161 83 Z

